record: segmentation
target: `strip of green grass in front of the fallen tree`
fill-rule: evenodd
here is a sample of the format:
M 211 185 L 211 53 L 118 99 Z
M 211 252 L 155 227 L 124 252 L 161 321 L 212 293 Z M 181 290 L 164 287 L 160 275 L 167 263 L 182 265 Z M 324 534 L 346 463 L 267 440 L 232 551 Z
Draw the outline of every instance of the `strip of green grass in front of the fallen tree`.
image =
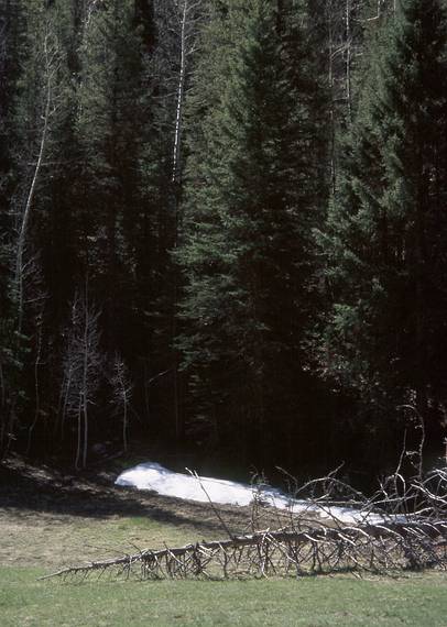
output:
M 37 582 L 42 570 L 0 569 L 2 627 L 446 627 L 447 576 L 350 576 L 244 582 Z

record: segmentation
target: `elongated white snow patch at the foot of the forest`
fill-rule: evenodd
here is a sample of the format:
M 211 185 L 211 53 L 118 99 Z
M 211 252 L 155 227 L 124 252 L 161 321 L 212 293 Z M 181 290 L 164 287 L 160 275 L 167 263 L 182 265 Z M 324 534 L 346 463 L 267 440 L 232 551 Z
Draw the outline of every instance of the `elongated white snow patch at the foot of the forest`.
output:
M 336 517 L 341 522 L 358 522 L 364 520 L 364 513 L 360 513 L 347 507 L 318 507 L 309 505 L 306 501 L 296 501 L 287 497 L 280 490 L 265 487 L 258 490 L 252 485 L 200 476 L 197 479 L 192 474 L 183 474 L 170 471 L 161 464 L 146 462 L 133 469 L 127 470 L 119 475 L 115 482 L 123 487 L 137 487 L 138 490 L 153 490 L 162 496 L 174 496 L 196 501 L 208 502 L 220 505 L 250 505 L 254 495 L 258 494 L 262 501 L 279 509 L 288 509 L 294 513 L 313 512 L 318 513 L 321 518 Z M 381 522 L 383 517 L 369 514 L 369 522 Z

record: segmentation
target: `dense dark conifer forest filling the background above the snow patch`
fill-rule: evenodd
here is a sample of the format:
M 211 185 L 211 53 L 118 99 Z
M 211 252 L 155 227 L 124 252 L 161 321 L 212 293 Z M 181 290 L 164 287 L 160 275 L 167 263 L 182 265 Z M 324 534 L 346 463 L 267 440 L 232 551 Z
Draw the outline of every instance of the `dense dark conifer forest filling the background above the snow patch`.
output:
M 446 0 L 0 0 L 0 457 L 446 426 Z

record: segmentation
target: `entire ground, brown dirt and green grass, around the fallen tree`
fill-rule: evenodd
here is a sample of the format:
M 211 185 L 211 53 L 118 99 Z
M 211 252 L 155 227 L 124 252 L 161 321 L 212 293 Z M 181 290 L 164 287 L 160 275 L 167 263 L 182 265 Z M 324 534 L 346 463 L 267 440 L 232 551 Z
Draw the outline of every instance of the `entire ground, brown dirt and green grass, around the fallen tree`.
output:
M 21 626 L 414 625 L 447 627 L 447 576 L 423 573 L 246 582 L 36 581 L 67 564 L 225 537 L 207 504 L 113 486 L 119 462 L 68 475 L 0 466 L 0 616 Z M 232 532 L 250 508 L 219 506 Z M 269 520 L 268 520 L 269 522 Z M 279 522 L 273 518 L 272 526 Z

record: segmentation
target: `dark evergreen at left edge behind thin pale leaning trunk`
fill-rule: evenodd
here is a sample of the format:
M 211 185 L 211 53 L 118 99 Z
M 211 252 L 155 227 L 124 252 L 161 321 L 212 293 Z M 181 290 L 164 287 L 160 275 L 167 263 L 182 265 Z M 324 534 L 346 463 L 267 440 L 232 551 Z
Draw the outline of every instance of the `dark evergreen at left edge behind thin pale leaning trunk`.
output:
M 68 107 L 62 25 L 67 12 L 59 4 L 36 6 L 25 0 L 9 2 L 8 8 L 17 23 L 11 29 L 15 34 L 7 77 L 10 173 L 4 207 L 8 227 L 2 235 L 8 244 L 3 249 L 8 277 L 3 302 L 9 321 L 2 324 L 8 336 L 2 338 L 2 358 L 9 359 L 2 382 L 9 387 L 3 389 L 9 437 L 20 439 L 29 416 L 39 413 L 35 397 L 44 301 L 40 243 L 52 213 L 51 180 L 59 167 L 59 136 Z

